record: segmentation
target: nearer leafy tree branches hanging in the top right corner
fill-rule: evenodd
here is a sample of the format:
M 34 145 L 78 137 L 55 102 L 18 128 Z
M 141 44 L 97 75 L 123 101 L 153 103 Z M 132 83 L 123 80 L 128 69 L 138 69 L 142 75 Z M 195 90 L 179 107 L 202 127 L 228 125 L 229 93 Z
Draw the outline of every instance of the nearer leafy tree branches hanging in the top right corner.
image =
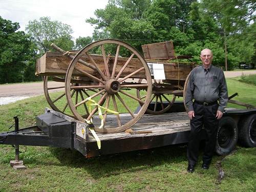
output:
M 224 42 L 223 47 L 227 50 L 226 59 L 229 60 L 229 62 L 231 61 L 231 67 L 229 67 L 229 69 L 232 69 L 233 66 L 238 66 L 239 62 L 245 61 L 241 60 L 241 58 L 245 59 L 243 55 L 248 56 L 246 53 L 252 55 L 253 52 L 255 52 L 253 48 L 253 42 L 255 42 L 255 40 L 251 35 L 248 37 L 248 34 L 252 33 L 246 32 L 255 20 L 255 1 L 204 0 L 202 1 L 202 6 L 207 8 L 205 11 L 206 14 L 214 18 L 219 26 L 220 36 L 222 36 Z M 248 39 L 250 40 L 248 41 Z M 251 40 L 252 42 L 250 42 Z

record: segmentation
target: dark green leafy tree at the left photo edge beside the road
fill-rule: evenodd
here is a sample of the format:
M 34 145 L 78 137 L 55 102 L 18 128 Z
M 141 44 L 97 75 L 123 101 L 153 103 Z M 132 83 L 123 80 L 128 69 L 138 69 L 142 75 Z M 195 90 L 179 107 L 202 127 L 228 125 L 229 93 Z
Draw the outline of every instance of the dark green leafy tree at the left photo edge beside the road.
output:
M 18 23 L 0 16 L 0 83 L 21 82 L 27 66 L 35 63 L 33 42 L 18 29 Z

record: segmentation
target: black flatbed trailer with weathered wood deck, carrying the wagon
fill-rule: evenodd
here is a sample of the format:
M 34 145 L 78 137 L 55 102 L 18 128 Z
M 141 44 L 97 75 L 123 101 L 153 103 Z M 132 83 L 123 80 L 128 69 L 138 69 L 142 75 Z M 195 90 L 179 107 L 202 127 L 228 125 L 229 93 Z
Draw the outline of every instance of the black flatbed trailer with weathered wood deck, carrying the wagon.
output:
M 125 117 L 128 114 L 120 115 Z M 113 117 L 108 120 L 115 119 Z M 217 154 L 226 155 L 234 150 L 238 138 L 247 147 L 256 146 L 255 109 L 226 109 L 219 124 Z M 131 127 L 131 133 L 97 133 L 101 142 L 100 149 L 89 129 L 86 123 L 46 108 L 45 114 L 36 117 L 36 125 L 25 129 L 19 129 L 18 118 L 15 117 L 15 131 L 1 133 L 0 144 L 71 148 L 90 158 L 186 143 L 190 124 L 183 103 L 176 102 L 171 113 L 143 115 Z M 205 139 L 204 129 L 201 138 Z

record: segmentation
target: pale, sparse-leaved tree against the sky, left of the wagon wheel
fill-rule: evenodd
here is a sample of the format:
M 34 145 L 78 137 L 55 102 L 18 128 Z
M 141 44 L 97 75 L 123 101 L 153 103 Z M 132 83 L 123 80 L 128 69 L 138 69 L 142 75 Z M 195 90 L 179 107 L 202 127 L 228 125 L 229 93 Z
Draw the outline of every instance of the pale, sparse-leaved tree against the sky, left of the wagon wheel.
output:
M 50 17 L 30 21 L 26 31 L 33 38 L 40 54 L 49 51 L 52 42 L 64 50 L 71 50 L 74 47 L 71 27 L 57 20 L 51 21 Z

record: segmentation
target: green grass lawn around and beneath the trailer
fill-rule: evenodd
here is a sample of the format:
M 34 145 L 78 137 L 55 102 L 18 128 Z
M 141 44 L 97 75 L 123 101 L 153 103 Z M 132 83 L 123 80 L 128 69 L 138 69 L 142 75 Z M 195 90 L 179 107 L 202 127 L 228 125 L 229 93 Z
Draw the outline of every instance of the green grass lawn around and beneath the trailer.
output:
M 256 105 L 256 86 L 227 79 L 229 95 Z M 57 93 L 55 93 L 57 94 Z M 0 106 L 0 133 L 8 131 L 13 116 L 20 127 L 35 123 L 35 116 L 48 106 L 44 96 Z M 136 104 L 135 104 L 136 106 Z M 230 105 L 232 107 L 238 105 Z M 49 107 L 49 106 L 48 106 Z M 25 146 L 20 147 L 25 151 Z M 193 174 L 186 172 L 186 146 L 166 146 L 152 150 L 85 159 L 79 152 L 62 148 L 28 146 L 20 154 L 27 170 L 15 171 L 9 161 L 14 148 L 0 145 L 0 191 L 255 191 L 256 148 L 238 146 L 237 152 L 222 160 L 224 179 L 218 181 L 214 156 L 209 170 L 201 162 Z M 200 153 L 202 159 L 202 150 Z

